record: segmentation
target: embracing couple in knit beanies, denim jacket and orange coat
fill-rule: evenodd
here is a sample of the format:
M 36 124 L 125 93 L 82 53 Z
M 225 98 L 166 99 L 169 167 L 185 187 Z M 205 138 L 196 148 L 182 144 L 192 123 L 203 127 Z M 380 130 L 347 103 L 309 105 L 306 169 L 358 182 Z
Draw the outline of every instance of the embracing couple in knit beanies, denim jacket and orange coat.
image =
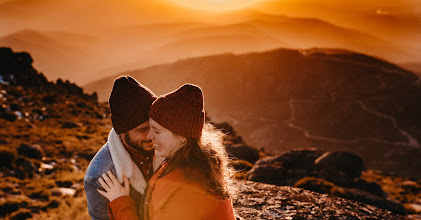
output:
M 123 76 L 109 104 L 113 129 L 84 178 L 92 219 L 235 219 L 223 134 L 198 86 L 156 97 Z

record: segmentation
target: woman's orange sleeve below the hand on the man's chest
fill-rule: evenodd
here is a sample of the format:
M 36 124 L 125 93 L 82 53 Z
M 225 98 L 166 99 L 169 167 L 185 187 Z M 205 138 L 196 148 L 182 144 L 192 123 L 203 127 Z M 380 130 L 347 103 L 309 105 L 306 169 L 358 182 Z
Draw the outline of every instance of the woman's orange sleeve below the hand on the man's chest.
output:
M 108 215 L 112 220 L 138 220 L 137 210 L 130 196 L 120 196 L 108 203 Z

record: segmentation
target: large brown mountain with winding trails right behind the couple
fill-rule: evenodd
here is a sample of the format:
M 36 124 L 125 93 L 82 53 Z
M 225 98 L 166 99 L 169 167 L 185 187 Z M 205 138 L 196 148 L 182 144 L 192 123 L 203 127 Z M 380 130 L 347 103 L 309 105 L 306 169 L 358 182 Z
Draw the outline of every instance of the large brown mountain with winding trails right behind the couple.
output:
M 200 85 L 215 121 L 247 143 L 281 153 L 303 147 L 349 151 L 367 166 L 421 176 L 421 85 L 417 75 L 345 50 L 277 49 L 220 54 L 128 71 L 156 94 Z M 86 85 L 107 100 L 117 75 Z

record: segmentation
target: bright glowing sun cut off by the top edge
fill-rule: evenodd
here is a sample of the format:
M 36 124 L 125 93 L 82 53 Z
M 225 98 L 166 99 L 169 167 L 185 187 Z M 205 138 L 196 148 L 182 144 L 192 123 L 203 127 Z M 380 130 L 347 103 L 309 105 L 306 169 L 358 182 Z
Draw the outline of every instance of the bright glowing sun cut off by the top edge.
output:
M 176 4 L 189 8 L 210 10 L 210 11 L 227 11 L 247 7 L 259 0 L 170 0 Z

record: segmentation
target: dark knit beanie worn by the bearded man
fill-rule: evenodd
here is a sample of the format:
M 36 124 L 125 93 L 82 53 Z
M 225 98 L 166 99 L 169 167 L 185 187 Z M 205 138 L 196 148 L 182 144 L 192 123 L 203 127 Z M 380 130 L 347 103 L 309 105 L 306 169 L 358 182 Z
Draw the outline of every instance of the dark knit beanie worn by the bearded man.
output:
M 127 132 L 147 121 L 149 109 L 155 99 L 151 90 L 131 76 L 117 78 L 108 101 L 115 132 Z

